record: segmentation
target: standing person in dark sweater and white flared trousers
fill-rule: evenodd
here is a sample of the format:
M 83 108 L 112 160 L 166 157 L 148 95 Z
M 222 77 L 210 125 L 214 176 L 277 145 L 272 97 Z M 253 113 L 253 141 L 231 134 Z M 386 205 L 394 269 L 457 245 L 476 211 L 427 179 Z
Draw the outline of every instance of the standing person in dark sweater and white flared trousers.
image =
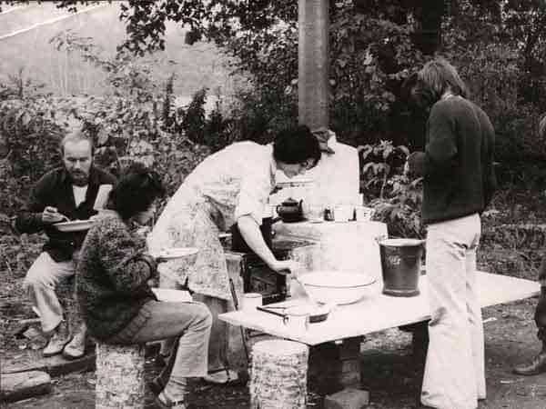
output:
M 424 177 L 430 344 L 420 407 L 475 409 L 485 399 L 483 325 L 476 293 L 480 214 L 496 187 L 494 130 L 466 99 L 466 86 L 446 60 L 420 70 L 411 95 L 429 95 L 425 152 L 408 157 Z

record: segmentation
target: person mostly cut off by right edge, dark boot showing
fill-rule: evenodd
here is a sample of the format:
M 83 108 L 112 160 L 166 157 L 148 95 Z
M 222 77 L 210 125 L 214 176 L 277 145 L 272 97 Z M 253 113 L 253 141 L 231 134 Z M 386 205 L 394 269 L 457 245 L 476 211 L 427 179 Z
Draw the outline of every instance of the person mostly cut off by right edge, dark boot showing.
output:
M 539 122 L 539 135 L 541 137 L 546 135 L 546 115 L 543 115 Z M 515 374 L 534 375 L 546 372 L 546 254 L 542 258 L 539 281 L 541 283 L 541 297 L 535 309 L 534 319 L 539 330 L 537 336 L 542 342 L 542 349 L 530 364 L 516 366 L 514 368 Z

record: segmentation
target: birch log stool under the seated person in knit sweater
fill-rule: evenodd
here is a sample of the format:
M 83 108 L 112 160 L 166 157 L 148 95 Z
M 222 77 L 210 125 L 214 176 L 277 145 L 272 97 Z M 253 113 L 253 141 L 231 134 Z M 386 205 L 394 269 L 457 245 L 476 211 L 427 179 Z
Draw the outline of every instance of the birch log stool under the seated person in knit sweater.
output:
M 143 345 L 96 343 L 96 409 L 144 408 Z

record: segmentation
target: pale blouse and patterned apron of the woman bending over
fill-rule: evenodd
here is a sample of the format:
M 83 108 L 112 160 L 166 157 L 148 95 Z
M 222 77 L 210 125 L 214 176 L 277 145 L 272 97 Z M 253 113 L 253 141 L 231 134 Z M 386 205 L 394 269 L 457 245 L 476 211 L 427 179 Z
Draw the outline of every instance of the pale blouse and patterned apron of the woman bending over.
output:
M 176 259 L 159 272 L 178 277 L 192 291 L 231 299 L 220 232 L 242 215 L 261 224 L 268 195 L 275 186 L 271 145 L 239 142 L 210 155 L 187 176 L 148 235 L 152 254 L 168 247 L 197 247 L 195 263 Z

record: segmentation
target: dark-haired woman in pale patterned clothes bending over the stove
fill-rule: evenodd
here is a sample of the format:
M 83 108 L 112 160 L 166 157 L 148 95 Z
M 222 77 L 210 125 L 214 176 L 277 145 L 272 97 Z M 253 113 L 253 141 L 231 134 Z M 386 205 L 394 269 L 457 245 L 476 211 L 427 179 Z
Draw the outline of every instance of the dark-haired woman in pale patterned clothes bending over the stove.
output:
M 303 175 L 320 159 L 319 141 L 308 127 L 281 131 L 271 145 L 238 142 L 210 155 L 187 176 L 159 216 L 148 236 L 150 251 L 167 247 L 197 247 L 197 261 L 187 265 L 183 259 L 161 265 L 162 286 L 167 276 L 177 275 L 179 282 L 187 278 L 194 298 L 203 301 L 213 314 L 210 335 L 209 363 L 206 380 L 225 384 L 237 379 L 227 370 L 227 326 L 217 314 L 227 312 L 231 299 L 224 250 L 218 239 L 237 223 L 248 246 L 275 271 L 290 270 L 297 264 L 278 260 L 268 248 L 259 230 L 264 206 L 275 188 L 275 172 L 289 178 Z M 159 270 L 160 273 L 162 270 Z M 168 274 L 171 273 L 171 274 Z

